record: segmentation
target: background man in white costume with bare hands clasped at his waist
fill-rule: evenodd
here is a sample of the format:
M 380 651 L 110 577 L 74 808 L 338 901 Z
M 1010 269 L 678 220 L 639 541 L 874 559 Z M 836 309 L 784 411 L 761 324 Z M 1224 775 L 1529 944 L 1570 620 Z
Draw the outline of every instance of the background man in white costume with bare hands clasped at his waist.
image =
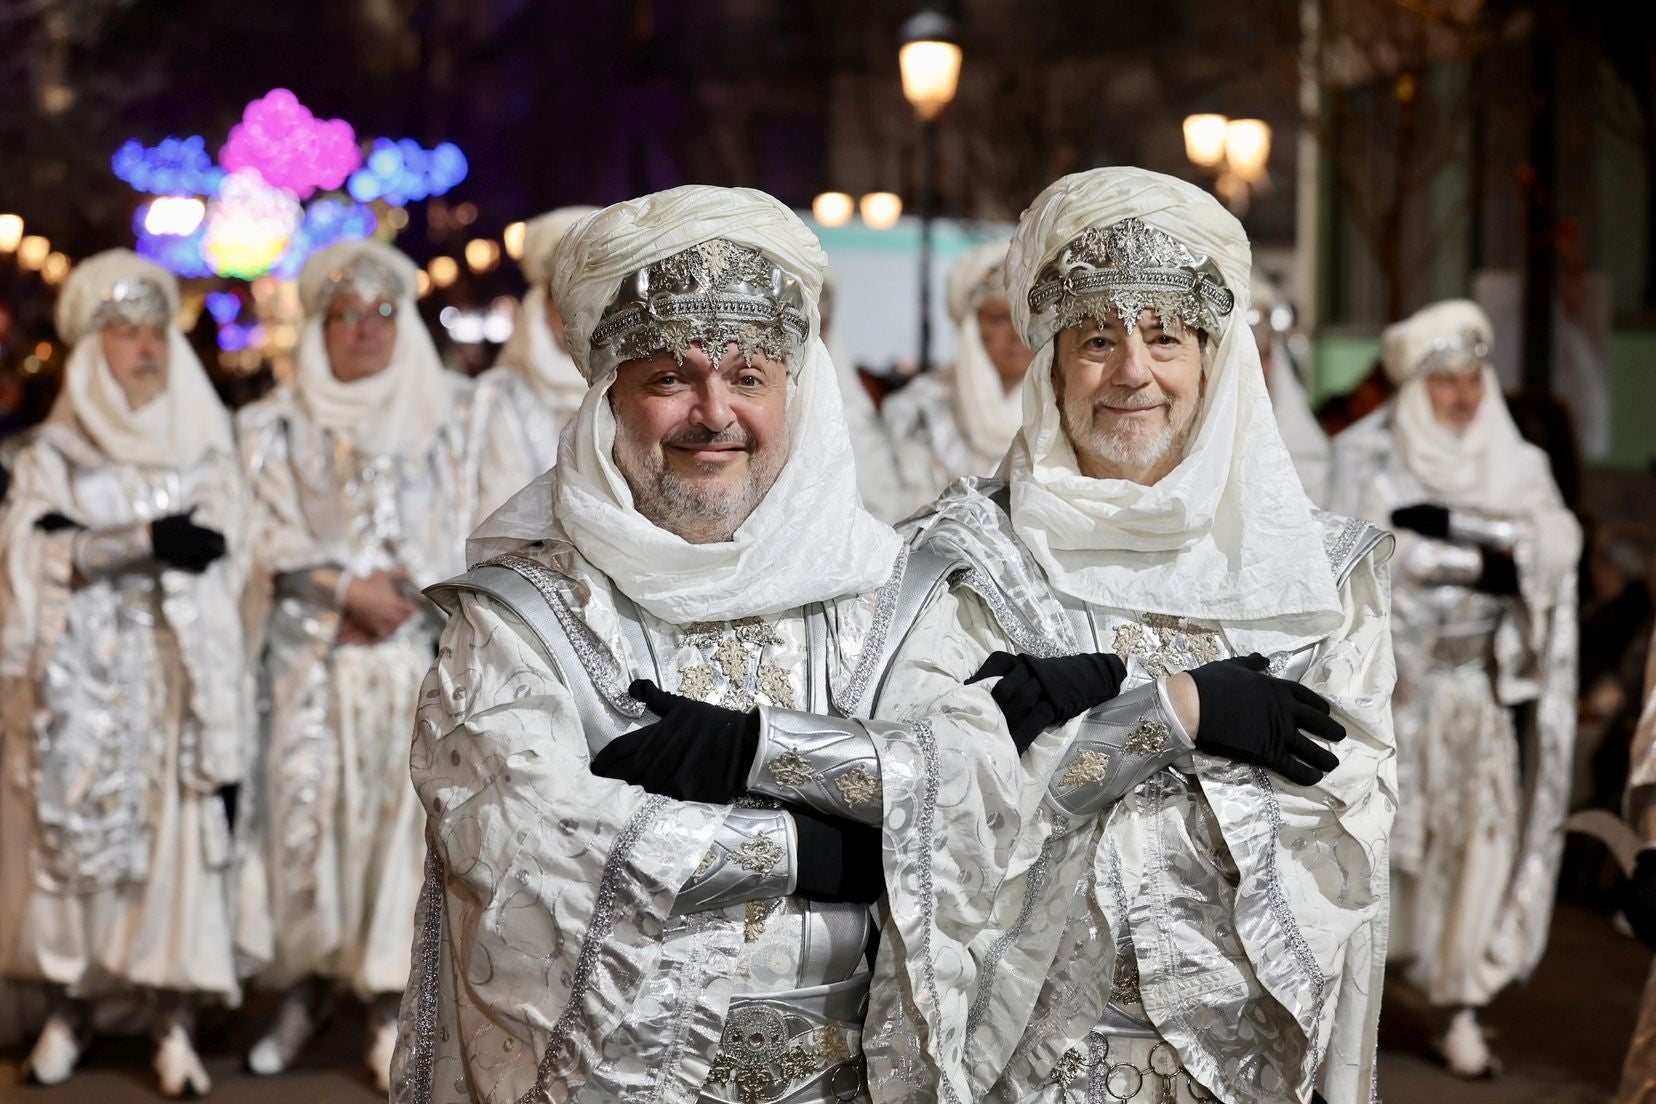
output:
M 369 1003 L 366 1061 L 384 1081 L 424 854 L 407 740 L 442 627 L 419 588 L 462 564 L 470 381 L 442 369 L 414 265 L 388 245 L 320 250 L 300 298 L 293 379 L 238 415 L 270 598 L 265 876 L 248 907 L 265 895 L 265 982 L 286 988 L 248 1064 L 286 1069 L 343 985 Z

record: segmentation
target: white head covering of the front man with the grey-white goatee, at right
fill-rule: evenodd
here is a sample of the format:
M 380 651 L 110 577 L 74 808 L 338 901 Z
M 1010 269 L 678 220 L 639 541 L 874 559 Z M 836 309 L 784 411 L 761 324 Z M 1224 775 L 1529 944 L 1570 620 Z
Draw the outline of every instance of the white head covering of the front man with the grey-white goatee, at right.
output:
M 1227 622 L 1237 647 L 1285 650 L 1340 622 L 1321 530 L 1265 394 L 1247 328 L 1247 235 L 1201 189 L 1143 169 L 1063 177 L 1023 212 L 1007 258 L 1018 329 L 1040 271 L 1090 227 L 1139 218 L 1206 255 L 1235 293 L 1209 333 L 1206 391 L 1184 460 L 1153 487 L 1081 475 L 1053 392 L 1057 339 L 1023 381 L 1007 458 L 1012 525 L 1052 583 L 1086 602 Z

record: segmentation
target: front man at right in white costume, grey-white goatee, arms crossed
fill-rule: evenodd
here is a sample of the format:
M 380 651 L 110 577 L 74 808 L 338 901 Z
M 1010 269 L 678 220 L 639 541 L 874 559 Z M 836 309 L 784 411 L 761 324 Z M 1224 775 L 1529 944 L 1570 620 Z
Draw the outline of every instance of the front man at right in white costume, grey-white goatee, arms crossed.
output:
M 1300 488 L 1249 270 L 1232 215 L 1141 169 L 1065 177 L 1018 223 L 1007 288 L 1037 356 L 1010 483 L 960 483 L 914 526 L 1017 641 L 977 674 L 1013 738 L 1060 723 L 1028 751 L 1050 796 L 1010 861 L 1057 938 L 1022 932 L 1050 953 L 1015 968 L 982 952 L 964 1028 L 907 996 L 893 1016 L 876 978 L 893 1046 L 869 1061 L 909 1099 L 1371 1097 L 1389 538 Z M 929 957 L 904 950 L 898 991 L 921 991 Z M 939 1038 L 964 1089 L 929 1086 Z

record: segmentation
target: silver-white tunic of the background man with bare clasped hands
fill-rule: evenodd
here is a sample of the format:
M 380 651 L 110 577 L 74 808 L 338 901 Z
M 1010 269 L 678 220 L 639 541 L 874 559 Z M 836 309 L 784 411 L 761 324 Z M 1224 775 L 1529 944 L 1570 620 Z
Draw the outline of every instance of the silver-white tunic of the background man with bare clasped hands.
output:
M 450 417 L 422 455 L 363 454 L 288 389 L 237 419 L 263 631 L 263 877 L 250 879 L 248 909 L 270 917 L 272 985 L 325 975 L 366 998 L 407 977 L 424 847 L 404 765 L 442 616 L 422 604 L 384 641 L 338 644 L 336 588 L 316 578 L 401 566 L 427 586 L 460 566 L 469 392 L 450 381 Z

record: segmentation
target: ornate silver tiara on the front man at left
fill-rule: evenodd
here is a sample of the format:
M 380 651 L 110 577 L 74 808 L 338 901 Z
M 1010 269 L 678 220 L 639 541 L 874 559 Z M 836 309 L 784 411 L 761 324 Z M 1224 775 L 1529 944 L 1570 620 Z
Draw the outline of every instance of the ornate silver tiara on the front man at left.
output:
M 621 281 L 593 329 L 591 377 L 623 361 L 691 346 L 722 353 L 730 343 L 749 362 L 763 354 L 798 364 L 811 323 L 805 288 L 757 250 L 714 238 L 639 268 Z

